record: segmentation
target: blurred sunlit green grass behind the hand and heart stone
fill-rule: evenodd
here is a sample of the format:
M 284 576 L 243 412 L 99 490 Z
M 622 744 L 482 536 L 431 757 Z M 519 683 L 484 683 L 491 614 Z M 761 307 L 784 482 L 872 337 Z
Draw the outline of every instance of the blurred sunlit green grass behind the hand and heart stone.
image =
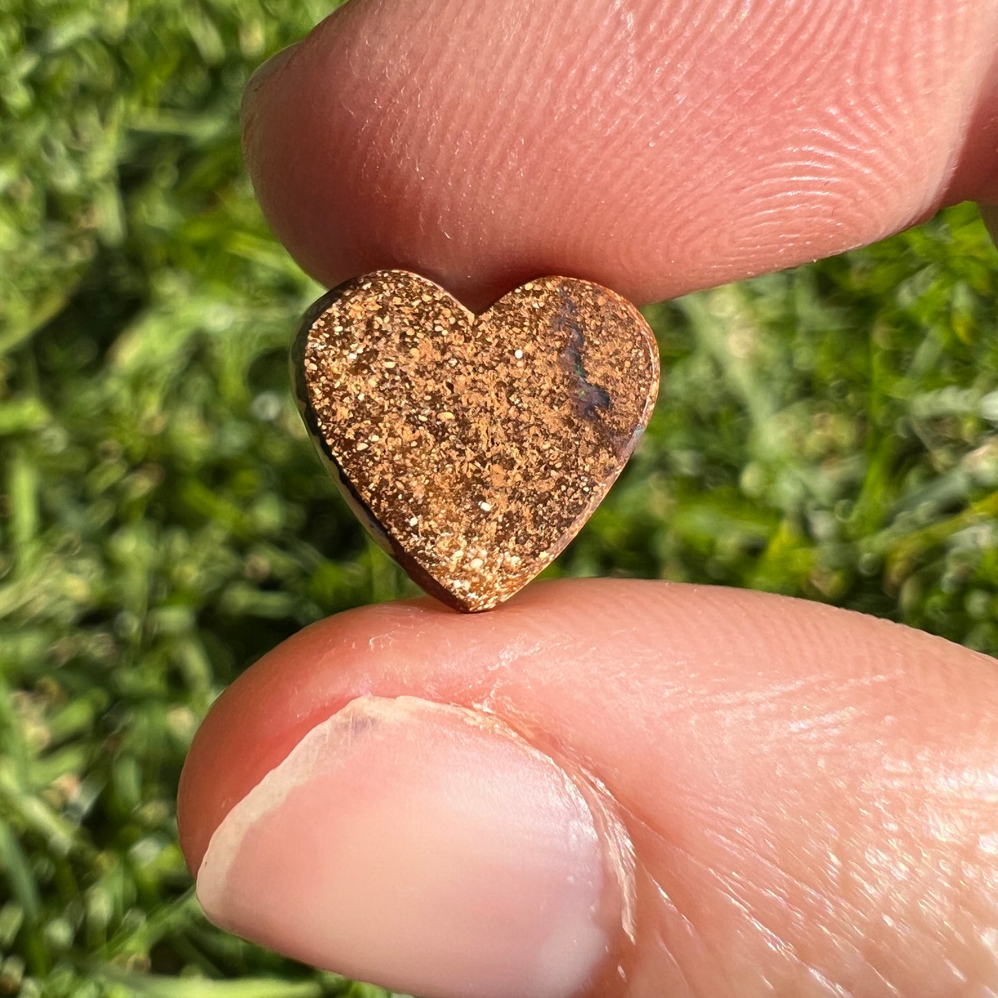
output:
M 293 411 L 285 349 L 319 288 L 240 158 L 250 71 L 328 8 L 0 11 L 0 994 L 381 994 L 209 926 L 174 818 L 226 684 L 411 591 Z M 961 207 L 649 309 L 658 411 L 555 571 L 789 593 L 998 652 L 996 264 Z

